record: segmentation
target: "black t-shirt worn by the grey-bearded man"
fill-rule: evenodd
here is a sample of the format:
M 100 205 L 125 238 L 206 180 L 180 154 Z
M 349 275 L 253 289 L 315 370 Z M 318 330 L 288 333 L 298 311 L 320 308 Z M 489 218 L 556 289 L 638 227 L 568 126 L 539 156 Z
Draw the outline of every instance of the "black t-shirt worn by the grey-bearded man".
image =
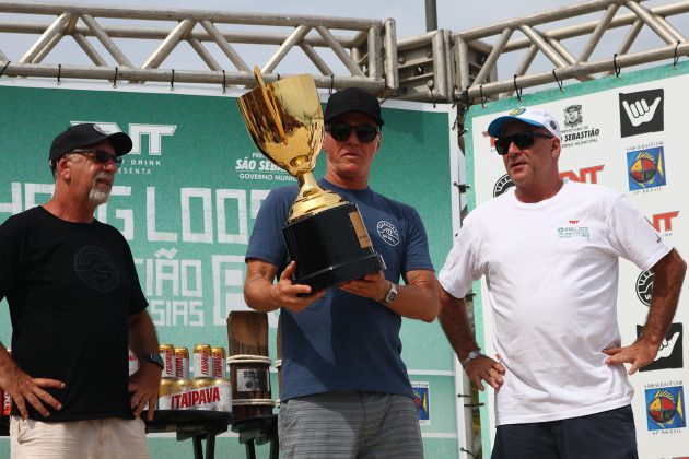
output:
M 35 420 L 132 419 L 128 316 L 145 309 L 129 245 L 98 221 L 71 223 L 37 207 L 0 226 L 0 299 L 8 298 L 12 356 L 62 403 Z M 13 414 L 19 414 L 16 407 Z

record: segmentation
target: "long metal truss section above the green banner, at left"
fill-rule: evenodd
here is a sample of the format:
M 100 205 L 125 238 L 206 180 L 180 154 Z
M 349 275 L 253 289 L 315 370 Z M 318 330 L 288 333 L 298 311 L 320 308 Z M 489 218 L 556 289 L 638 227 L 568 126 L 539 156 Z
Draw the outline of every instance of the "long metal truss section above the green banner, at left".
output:
M 5 20 L 8 14 L 2 13 L 38 16 L 44 21 L 45 16 L 55 19 L 49 22 L 20 22 Z M 145 25 L 138 25 L 142 21 Z M 349 36 L 338 36 L 332 31 L 344 31 Z M 10 39 L 9 34 L 38 35 L 38 38 L 21 58 L 11 61 L 2 50 L 3 43 Z M 50 51 L 68 37 L 79 45 L 93 66 L 77 64 L 74 61 L 43 63 Z M 142 40 L 154 40 L 157 47 L 139 64 L 126 52 L 128 49 L 140 50 L 136 43 Z M 0 75 L 4 76 L 203 83 L 222 85 L 224 90 L 253 85 L 252 67 L 259 56 L 255 52 L 256 46 L 272 45 L 277 50 L 259 66 L 267 82 L 279 79 L 280 62 L 288 54 L 301 49 L 302 58 L 305 55 L 313 63 L 312 72 L 317 86 L 360 86 L 387 95 L 389 90 L 398 87 L 395 40 L 394 20 L 382 22 L 0 0 Z M 188 44 L 196 51 L 201 67 L 207 70 L 191 66 L 186 69 L 163 67 L 171 52 L 182 48 L 183 44 Z M 241 50 L 241 47 L 245 49 Z M 344 71 L 336 74 L 322 57 L 324 50 L 331 55 L 329 62 L 337 61 Z M 83 55 L 80 57 L 83 59 Z M 304 72 L 308 71 L 305 69 Z M 347 74 L 342 74 L 344 72 Z

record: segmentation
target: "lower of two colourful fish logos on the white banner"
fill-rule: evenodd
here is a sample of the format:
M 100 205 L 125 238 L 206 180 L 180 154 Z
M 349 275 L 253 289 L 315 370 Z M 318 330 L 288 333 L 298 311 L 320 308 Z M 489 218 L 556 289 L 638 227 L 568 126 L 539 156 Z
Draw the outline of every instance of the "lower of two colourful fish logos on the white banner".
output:
M 682 386 L 645 389 L 645 391 L 649 431 L 678 433 L 679 428 L 687 426 Z M 669 429 L 674 431 L 667 432 Z

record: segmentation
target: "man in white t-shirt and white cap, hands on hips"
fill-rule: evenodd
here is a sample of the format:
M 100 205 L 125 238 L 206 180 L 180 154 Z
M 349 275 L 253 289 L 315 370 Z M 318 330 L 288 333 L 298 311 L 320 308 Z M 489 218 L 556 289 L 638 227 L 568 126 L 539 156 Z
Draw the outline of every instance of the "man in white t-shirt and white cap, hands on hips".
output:
M 624 195 L 560 178 L 550 114 L 519 108 L 488 133 L 515 187 L 467 216 L 439 281 L 445 334 L 471 381 L 495 389 L 492 457 L 637 458 L 626 373 L 655 358 L 687 266 Z M 627 346 L 616 313 L 620 257 L 654 273 L 646 325 Z M 497 360 L 481 354 L 463 299 L 481 276 Z

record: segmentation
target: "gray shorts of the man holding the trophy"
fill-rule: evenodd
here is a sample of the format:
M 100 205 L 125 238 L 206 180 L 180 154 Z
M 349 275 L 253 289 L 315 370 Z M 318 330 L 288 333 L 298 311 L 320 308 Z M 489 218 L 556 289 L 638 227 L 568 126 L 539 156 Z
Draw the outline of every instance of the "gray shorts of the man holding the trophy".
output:
M 280 405 L 280 448 L 285 459 L 422 459 L 419 409 L 411 397 L 334 392 Z

